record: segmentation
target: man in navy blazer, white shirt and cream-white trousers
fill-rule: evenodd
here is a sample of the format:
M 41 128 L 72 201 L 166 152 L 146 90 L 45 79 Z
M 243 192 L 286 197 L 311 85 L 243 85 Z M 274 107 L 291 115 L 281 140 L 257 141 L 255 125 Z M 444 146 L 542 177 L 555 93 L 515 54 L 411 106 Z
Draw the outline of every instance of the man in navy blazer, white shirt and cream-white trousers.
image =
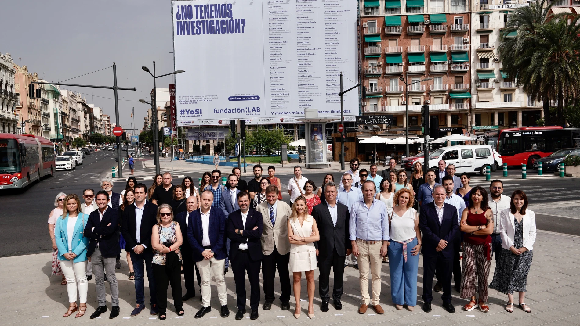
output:
M 227 288 L 224 278 L 226 252 L 226 217 L 219 208 L 212 207 L 213 192 L 209 189 L 201 192 L 201 208 L 189 214 L 187 222 L 187 241 L 191 246 L 193 260 L 201 274 L 201 301 L 203 306 L 195 318 L 204 317 L 212 311 L 209 305 L 211 298 L 211 277 L 216 281 L 218 298 L 221 305 L 220 316 L 230 316 L 227 309 Z

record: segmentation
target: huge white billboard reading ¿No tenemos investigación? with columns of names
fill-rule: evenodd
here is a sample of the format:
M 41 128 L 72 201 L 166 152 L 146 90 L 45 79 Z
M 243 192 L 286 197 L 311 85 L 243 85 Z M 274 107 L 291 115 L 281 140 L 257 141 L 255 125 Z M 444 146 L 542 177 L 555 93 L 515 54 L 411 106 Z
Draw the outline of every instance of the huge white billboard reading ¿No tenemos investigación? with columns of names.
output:
M 339 117 L 340 72 L 358 80 L 357 1 L 173 1 L 172 15 L 178 126 Z M 344 101 L 354 121 L 358 92 Z

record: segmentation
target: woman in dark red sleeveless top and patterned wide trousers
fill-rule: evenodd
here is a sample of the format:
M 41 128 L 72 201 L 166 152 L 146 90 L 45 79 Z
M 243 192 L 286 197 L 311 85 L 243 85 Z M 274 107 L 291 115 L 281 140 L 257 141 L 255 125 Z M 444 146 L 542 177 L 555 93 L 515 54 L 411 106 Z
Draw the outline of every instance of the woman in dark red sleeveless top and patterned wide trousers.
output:
M 459 229 L 463 235 L 463 269 L 461 271 L 461 298 L 471 298 L 463 309 L 470 312 L 477 306 L 487 313 L 485 305 L 487 284 L 491 266 L 491 233 L 494 218 L 487 206 L 487 191 L 480 186 L 473 187 L 469 195 L 469 206 L 463 210 Z M 476 284 L 479 300 L 476 301 Z

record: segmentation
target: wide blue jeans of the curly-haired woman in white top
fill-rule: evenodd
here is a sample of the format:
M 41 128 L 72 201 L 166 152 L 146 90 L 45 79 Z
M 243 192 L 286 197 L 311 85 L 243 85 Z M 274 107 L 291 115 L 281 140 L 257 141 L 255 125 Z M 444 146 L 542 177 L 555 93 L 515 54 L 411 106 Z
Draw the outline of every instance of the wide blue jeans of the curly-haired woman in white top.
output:
M 403 258 L 403 244 L 389 240 L 389 271 L 391 274 L 391 299 L 396 305 L 417 305 L 417 271 L 419 255 L 411 250 L 417 245 L 417 238 L 407 244 L 407 261 Z

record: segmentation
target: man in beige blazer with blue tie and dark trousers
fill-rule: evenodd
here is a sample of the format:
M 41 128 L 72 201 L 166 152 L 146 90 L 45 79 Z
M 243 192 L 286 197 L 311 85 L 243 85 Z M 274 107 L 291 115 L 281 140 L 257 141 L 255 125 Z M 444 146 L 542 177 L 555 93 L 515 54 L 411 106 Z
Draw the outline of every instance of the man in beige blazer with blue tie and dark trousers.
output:
M 262 277 L 264 279 L 264 310 L 270 310 L 274 301 L 274 277 L 276 266 L 280 276 L 282 310 L 290 309 L 290 241 L 288 240 L 288 218 L 292 214 L 290 206 L 278 200 L 278 187 L 266 188 L 266 202 L 256 210 L 262 213 L 264 229 L 262 232 Z

